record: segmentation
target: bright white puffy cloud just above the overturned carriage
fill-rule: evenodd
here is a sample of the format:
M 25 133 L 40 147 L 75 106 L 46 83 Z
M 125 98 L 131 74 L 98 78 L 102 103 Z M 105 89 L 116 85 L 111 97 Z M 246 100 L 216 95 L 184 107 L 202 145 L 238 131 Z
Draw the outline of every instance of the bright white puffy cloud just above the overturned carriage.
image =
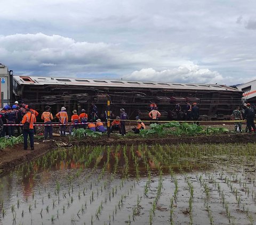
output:
M 198 65 L 193 64 L 162 71 L 153 68 L 141 69 L 125 76 L 125 79 L 197 84 L 222 84 L 225 80 L 217 71 L 200 69 Z

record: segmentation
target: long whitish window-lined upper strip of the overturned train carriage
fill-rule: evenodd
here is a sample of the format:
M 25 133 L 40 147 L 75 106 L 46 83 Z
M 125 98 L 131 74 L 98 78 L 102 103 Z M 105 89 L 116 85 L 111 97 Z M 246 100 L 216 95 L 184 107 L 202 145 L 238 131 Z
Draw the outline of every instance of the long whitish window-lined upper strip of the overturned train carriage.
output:
M 127 87 L 127 88 L 163 88 L 163 89 L 198 89 L 239 91 L 226 85 L 217 84 L 179 84 L 175 82 L 151 82 L 132 80 L 105 80 L 65 77 L 13 76 L 19 85 L 69 85 L 93 87 Z

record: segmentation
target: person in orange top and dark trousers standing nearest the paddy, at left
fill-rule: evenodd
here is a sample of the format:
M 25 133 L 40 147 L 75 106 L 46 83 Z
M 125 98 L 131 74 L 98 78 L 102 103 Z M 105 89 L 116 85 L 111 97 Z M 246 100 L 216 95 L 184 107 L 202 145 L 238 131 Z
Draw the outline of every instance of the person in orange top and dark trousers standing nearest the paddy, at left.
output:
M 34 123 L 36 122 L 36 116 L 31 113 L 30 109 L 27 107 L 26 114 L 23 116 L 21 123 L 23 126 L 23 140 L 24 140 L 24 150 L 28 149 L 28 136 L 30 140 L 30 148 L 34 150 Z

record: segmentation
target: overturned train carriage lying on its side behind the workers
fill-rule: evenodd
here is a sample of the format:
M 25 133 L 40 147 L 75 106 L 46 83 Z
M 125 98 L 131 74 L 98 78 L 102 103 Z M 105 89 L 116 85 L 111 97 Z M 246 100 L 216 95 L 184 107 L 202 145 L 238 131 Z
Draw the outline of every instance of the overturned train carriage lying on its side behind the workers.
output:
M 157 104 L 163 119 L 176 119 L 175 104 L 185 107 L 187 101 L 197 102 L 205 120 L 228 119 L 242 98 L 242 91 L 225 85 L 28 76 L 13 76 L 13 94 L 13 99 L 41 112 L 45 105 L 51 105 L 53 112 L 63 105 L 69 114 L 73 109 L 90 112 L 95 103 L 101 116 L 109 99 L 115 115 L 124 108 L 130 119 L 138 114 L 148 119 L 150 102 Z

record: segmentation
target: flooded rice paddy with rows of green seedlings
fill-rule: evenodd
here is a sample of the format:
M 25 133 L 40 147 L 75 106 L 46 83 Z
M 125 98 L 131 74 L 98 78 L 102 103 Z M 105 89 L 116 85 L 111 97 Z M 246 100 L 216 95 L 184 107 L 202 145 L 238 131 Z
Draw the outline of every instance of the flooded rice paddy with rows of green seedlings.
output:
M 0 178 L 0 224 L 255 224 L 253 144 L 56 149 Z

